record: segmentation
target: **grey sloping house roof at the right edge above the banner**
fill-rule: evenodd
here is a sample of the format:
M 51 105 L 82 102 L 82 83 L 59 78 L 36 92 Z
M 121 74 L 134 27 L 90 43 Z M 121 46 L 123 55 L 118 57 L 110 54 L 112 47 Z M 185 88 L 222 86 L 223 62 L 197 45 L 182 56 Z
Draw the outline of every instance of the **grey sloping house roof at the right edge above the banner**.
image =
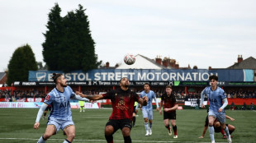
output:
M 235 62 L 227 69 L 256 69 L 256 59 L 253 57 L 246 58 L 242 62 Z

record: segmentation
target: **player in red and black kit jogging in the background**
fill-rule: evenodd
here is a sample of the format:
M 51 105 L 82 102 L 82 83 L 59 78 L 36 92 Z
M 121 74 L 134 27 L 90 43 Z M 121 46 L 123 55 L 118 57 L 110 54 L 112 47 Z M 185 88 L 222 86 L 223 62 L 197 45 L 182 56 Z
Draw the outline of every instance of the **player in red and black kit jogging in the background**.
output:
M 166 93 L 161 97 L 159 113 L 162 114 L 162 106 L 164 105 L 164 126 L 168 129 L 168 135 L 172 136 L 172 130 L 169 125 L 169 120 L 171 120 L 174 132 L 173 138 L 178 138 L 176 126 L 176 109 L 178 108 L 178 104 L 172 93 L 172 86 L 167 85 L 165 91 Z

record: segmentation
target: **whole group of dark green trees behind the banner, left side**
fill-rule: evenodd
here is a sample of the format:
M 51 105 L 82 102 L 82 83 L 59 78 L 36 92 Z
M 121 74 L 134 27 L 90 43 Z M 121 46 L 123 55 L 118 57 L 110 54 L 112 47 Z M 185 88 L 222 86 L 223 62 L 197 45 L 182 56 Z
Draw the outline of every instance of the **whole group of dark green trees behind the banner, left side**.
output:
M 88 71 L 96 69 L 102 61 L 97 61 L 95 42 L 92 39 L 86 9 L 78 5 L 74 12 L 60 16 L 58 3 L 50 9 L 47 30 L 43 35 L 42 62 L 36 62 L 35 54 L 29 44 L 17 48 L 8 64 L 7 85 L 14 81 L 28 81 L 28 71 L 45 69 L 51 71 Z

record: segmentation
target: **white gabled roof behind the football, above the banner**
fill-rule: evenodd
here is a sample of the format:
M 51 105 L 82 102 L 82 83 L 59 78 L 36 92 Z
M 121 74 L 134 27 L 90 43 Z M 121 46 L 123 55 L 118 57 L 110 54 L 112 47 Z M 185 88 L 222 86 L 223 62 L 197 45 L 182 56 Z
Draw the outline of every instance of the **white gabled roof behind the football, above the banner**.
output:
M 121 62 L 119 67 L 116 69 L 165 69 L 166 67 L 159 65 L 153 59 L 146 58 L 140 54 L 135 56 L 135 63 L 132 65 L 127 65 L 124 61 Z

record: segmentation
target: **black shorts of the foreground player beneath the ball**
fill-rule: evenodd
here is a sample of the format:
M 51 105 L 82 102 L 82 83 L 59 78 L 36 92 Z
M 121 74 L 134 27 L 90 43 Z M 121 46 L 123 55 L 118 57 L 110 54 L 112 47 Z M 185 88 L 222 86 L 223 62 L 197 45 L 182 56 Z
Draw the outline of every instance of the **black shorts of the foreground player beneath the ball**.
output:
M 116 132 L 118 129 L 124 128 L 124 127 L 129 127 L 131 129 L 131 121 L 129 119 L 121 119 L 121 120 L 108 120 L 106 127 L 108 125 L 111 125 L 114 127 L 114 132 Z

